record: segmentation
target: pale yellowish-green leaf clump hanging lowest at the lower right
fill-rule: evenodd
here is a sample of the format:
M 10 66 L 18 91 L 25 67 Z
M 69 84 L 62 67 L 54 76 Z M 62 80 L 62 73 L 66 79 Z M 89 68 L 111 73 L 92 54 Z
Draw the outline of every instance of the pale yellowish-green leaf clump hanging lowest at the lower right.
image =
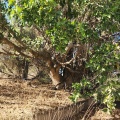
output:
M 120 81 L 116 79 L 107 80 L 104 85 L 100 86 L 93 94 L 95 100 L 106 105 L 107 112 L 111 112 L 115 109 L 115 100 L 120 100 Z

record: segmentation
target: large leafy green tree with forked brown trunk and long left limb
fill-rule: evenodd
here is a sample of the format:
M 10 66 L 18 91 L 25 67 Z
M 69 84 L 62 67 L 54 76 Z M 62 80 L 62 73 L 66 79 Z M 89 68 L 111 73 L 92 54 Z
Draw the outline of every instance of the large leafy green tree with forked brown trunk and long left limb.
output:
M 102 96 L 100 101 L 108 108 L 114 107 L 115 99 L 120 98 L 120 88 L 113 88 L 119 82 L 108 82 L 108 78 L 120 60 L 119 45 L 113 44 L 111 37 L 120 29 L 119 0 L 6 2 L 10 36 L 5 36 L 7 30 L 3 31 L 0 40 L 17 52 L 9 54 L 45 61 L 58 88 L 80 82 L 73 85 L 72 99 L 81 94 L 97 100 Z M 34 37 L 27 34 L 31 28 Z

